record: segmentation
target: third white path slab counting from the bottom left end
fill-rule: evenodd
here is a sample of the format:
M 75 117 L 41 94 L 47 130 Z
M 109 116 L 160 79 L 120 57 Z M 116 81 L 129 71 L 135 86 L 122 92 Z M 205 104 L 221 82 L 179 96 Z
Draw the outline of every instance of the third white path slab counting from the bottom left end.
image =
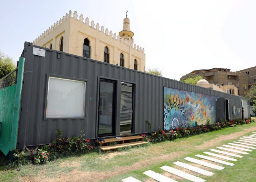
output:
M 185 178 L 187 180 L 190 180 L 190 181 L 193 181 L 193 182 L 205 182 L 206 180 L 202 179 L 202 178 L 199 178 L 197 176 L 194 176 L 192 174 L 189 174 L 189 173 L 185 173 L 183 171 L 180 171 L 178 169 L 175 169 L 173 167 L 169 167 L 169 166 L 162 166 L 160 167 L 161 169 L 169 172 L 169 173 L 172 173 L 172 174 L 175 174 L 177 176 L 180 176 L 182 178 Z

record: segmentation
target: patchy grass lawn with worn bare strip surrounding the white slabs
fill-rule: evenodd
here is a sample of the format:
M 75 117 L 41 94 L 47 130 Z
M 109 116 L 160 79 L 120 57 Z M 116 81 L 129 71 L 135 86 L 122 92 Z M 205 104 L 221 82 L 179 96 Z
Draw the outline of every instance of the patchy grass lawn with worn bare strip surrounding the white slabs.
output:
M 216 147 L 223 144 L 228 145 L 228 143 L 252 132 L 256 132 L 256 122 L 224 128 L 188 138 L 176 139 L 174 141 L 165 141 L 140 147 L 127 147 L 114 152 L 106 152 L 105 154 L 92 152 L 81 156 L 57 159 L 45 165 L 30 164 L 18 167 L 17 169 L 9 169 L 8 165 L 3 165 L 6 162 L 6 158 L 0 154 L 0 181 L 121 182 L 122 179 L 133 176 L 142 182 L 153 182 L 154 180 L 143 174 L 144 171 L 152 170 L 165 174 L 177 181 L 190 182 L 189 180 L 171 175 L 160 169 L 160 167 L 168 165 L 176 169 L 181 169 L 173 163 L 180 161 L 191 164 L 184 160 L 184 158 L 187 156 L 197 158 L 195 156 L 196 154 L 206 155 L 203 152 L 211 152 L 209 151 L 210 149 L 216 149 Z M 206 177 L 193 172 L 191 174 L 209 182 L 255 182 L 256 150 L 252 150 L 248 155 L 241 155 L 243 158 L 229 156 L 238 159 L 235 162 L 228 161 L 235 164 L 232 167 L 218 164 L 225 167 L 223 170 L 201 167 L 215 173 L 213 176 Z

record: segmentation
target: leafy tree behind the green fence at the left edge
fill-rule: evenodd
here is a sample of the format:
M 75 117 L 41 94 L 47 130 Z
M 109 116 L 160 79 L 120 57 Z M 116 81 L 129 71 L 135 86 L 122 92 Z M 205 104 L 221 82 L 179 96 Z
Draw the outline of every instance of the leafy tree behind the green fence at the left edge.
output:
M 0 79 L 9 74 L 13 69 L 15 69 L 15 64 L 9 56 L 5 56 L 0 51 Z

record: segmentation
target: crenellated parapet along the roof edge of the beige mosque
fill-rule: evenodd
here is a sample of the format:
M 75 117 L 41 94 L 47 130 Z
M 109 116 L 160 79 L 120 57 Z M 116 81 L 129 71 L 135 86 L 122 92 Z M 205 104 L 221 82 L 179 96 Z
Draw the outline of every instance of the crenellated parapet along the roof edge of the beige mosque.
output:
M 91 22 L 89 22 L 89 18 L 86 17 L 84 19 L 84 16 L 82 14 L 78 17 L 78 14 L 76 11 L 74 11 L 73 16 L 72 16 L 72 11 L 69 11 L 69 13 L 66 13 L 66 15 L 63 16 L 62 18 L 60 18 L 59 21 L 54 23 L 51 27 L 49 27 L 46 31 L 44 31 L 40 36 L 38 36 L 37 39 L 35 39 L 33 41 L 33 44 L 37 43 L 38 41 L 40 41 L 41 39 L 46 37 L 48 34 L 50 34 L 50 32 L 54 31 L 56 28 L 58 28 L 58 26 L 63 24 L 69 18 L 74 18 L 76 20 L 78 20 L 78 18 L 79 18 L 78 21 L 89 26 L 90 28 L 93 28 L 95 31 L 99 31 L 102 34 L 109 36 L 112 39 L 115 39 L 116 41 L 124 43 L 139 52 L 145 53 L 144 48 L 141 48 L 139 45 L 136 46 L 136 44 L 133 43 L 133 41 L 130 41 L 130 40 L 124 39 L 123 37 L 120 37 L 118 34 L 113 33 L 112 30 L 109 31 L 108 28 L 104 29 L 104 26 L 100 26 L 98 23 L 95 25 L 93 20 Z

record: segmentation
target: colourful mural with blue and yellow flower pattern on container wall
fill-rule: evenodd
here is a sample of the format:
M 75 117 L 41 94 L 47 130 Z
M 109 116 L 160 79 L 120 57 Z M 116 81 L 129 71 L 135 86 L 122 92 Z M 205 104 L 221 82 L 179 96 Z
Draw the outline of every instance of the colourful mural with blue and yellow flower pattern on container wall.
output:
M 218 97 L 164 87 L 164 129 L 206 124 L 216 119 Z

